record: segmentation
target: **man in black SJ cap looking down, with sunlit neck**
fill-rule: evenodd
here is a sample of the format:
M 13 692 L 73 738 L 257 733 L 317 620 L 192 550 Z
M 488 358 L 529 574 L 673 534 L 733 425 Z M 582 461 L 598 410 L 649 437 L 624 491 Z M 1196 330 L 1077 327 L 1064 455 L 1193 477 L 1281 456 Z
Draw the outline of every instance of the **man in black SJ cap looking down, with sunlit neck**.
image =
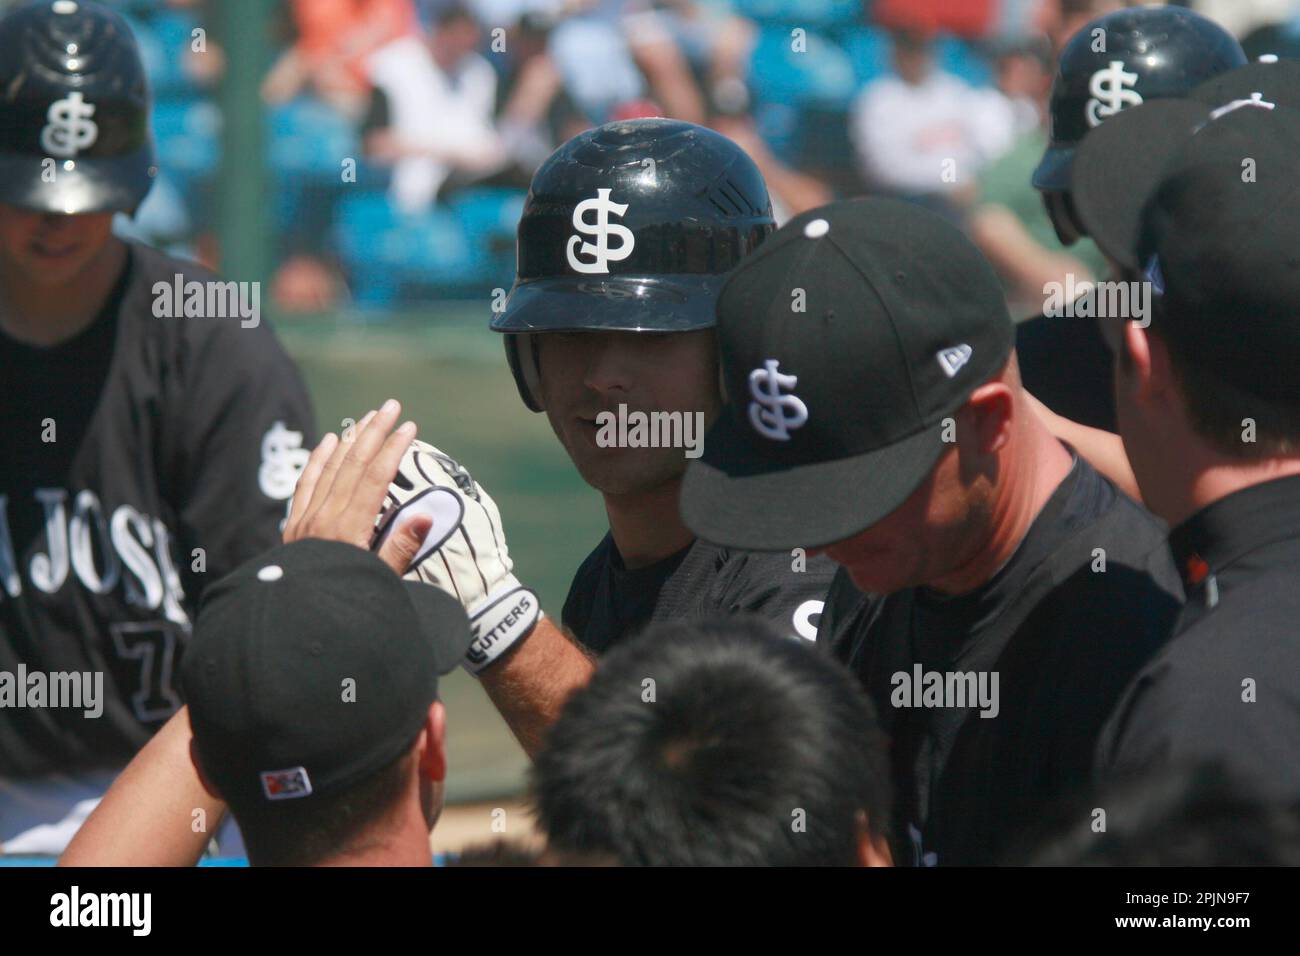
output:
M 789 321 L 792 287 L 810 321 Z M 996 274 L 931 212 L 802 213 L 732 272 L 718 315 L 733 398 L 682 516 L 841 566 L 818 646 L 890 737 L 896 861 L 994 862 L 1088 783 L 1106 715 L 1167 636 L 1162 525 L 1034 414 Z

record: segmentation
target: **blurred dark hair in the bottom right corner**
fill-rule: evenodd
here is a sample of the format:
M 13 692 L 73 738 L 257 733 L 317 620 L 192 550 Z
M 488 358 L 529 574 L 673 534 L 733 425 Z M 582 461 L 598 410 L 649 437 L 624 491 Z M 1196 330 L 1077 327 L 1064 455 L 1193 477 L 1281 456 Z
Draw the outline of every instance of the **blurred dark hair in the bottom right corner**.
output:
M 1086 805 L 1087 804 L 1087 805 Z M 1010 862 L 1032 866 L 1296 866 L 1300 808 L 1260 799 L 1222 767 L 1171 766 L 1115 780 L 1049 817 Z M 1097 810 L 1105 810 L 1098 831 Z

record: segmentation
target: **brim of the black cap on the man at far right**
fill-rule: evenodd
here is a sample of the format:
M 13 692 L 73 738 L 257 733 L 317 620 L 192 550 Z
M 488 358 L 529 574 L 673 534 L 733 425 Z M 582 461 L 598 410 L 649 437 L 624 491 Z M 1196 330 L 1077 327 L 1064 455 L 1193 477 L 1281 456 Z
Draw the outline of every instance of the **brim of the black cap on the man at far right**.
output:
M 1074 206 L 1093 242 L 1128 269 L 1140 269 L 1143 209 L 1161 174 L 1209 120 L 1204 103 L 1150 100 L 1088 134 L 1074 166 Z

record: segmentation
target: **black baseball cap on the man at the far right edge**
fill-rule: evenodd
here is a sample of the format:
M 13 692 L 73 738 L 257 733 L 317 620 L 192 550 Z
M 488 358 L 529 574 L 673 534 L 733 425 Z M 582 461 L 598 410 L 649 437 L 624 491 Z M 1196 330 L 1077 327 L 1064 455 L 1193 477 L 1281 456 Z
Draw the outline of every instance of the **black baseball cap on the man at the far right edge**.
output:
M 1100 156 L 1080 163 L 1080 216 L 1152 284 L 1154 321 L 1180 351 L 1248 394 L 1300 401 L 1288 364 L 1300 358 L 1300 116 L 1262 96 L 1130 112 L 1095 133 L 1100 147 L 1102 134 L 1127 137 L 1105 159 L 1126 178 L 1108 186 Z

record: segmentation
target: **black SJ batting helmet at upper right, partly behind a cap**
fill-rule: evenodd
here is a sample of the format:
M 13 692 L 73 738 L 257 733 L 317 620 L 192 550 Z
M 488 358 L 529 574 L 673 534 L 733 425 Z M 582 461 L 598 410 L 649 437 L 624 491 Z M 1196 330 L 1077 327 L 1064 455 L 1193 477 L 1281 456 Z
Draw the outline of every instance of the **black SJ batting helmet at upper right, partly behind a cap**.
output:
M 1083 233 L 1070 208 L 1075 147 L 1121 109 L 1186 96 L 1245 62 L 1232 34 L 1180 7 L 1134 7 L 1087 23 L 1061 51 L 1052 82 L 1052 138 L 1034 170 L 1062 242 Z

